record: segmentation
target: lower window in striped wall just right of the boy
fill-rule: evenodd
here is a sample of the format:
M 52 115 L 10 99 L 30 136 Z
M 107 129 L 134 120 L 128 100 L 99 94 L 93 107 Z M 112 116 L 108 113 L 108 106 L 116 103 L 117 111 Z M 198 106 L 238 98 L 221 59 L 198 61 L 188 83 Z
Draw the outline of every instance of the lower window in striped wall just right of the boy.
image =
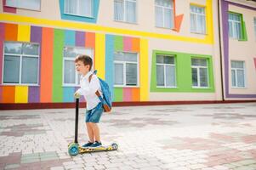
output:
M 116 52 L 114 54 L 115 86 L 138 86 L 138 54 Z

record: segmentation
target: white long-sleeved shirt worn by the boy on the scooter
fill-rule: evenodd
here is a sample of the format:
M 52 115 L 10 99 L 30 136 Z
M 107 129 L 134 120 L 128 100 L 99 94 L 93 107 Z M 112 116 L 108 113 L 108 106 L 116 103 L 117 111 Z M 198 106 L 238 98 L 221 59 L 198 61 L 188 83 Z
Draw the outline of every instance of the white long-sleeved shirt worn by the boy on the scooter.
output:
M 92 76 L 91 82 L 89 82 L 88 78 L 93 74 L 92 71 L 89 71 L 84 77 L 80 79 L 80 86 L 77 90 L 77 93 L 84 96 L 86 100 L 86 109 L 92 110 L 100 103 L 99 97 L 95 94 L 97 90 L 99 90 L 100 95 L 102 96 L 101 88 L 100 88 L 100 80 L 96 75 Z

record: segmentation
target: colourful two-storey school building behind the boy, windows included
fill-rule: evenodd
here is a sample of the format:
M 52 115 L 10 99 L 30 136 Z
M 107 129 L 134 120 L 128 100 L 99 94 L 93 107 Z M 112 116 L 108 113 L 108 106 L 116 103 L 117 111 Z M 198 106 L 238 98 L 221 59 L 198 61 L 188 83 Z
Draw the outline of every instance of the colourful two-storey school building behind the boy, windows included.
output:
M 72 106 L 77 54 L 114 105 L 255 101 L 256 1 L 1 0 L 0 109 Z

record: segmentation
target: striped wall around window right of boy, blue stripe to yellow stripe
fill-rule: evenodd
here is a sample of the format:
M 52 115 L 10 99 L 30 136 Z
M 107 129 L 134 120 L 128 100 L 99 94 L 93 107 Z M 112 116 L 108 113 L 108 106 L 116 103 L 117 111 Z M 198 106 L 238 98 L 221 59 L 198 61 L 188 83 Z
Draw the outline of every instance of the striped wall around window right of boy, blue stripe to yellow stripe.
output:
M 112 87 L 113 99 L 115 101 L 146 101 L 148 100 L 148 70 L 147 63 L 147 40 L 137 37 L 122 37 L 106 35 L 105 40 L 105 77 L 113 77 L 113 54 L 116 51 L 134 52 L 139 54 L 139 88 L 113 88 L 113 78 L 108 78 L 107 82 Z

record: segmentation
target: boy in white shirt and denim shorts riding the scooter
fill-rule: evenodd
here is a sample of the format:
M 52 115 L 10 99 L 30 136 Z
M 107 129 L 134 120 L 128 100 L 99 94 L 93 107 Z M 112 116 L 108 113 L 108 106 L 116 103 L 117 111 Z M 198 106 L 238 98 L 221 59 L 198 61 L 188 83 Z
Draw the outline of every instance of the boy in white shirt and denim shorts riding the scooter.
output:
M 75 59 L 75 66 L 78 73 L 81 74 L 81 88 L 74 94 L 76 98 L 83 95 L 87 106 L 85 122 L 88 131 L 88 143 L 82 147 L 100 147 L 100 128 L 97 123 L 100 122 L 100 116 L 103 113 L 102 103 L 99 97 L 95 94 L 97 91 L 102 96 L 99 78 L 91 71 L 93 60 L 87 55 L 78 55 Z

